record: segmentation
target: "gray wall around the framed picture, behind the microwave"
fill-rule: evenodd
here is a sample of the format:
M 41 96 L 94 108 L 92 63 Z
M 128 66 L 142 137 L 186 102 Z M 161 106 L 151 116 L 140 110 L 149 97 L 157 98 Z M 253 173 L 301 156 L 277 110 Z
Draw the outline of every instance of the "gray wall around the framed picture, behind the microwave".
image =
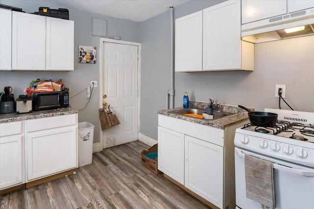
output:
M 1 0 L 1 4 L 23 8 L 25 12 L 33 13 L 38 7 L 46 6 L 51 9 L 64 8 L 51 3 L 51 1 L 38 0 Z M 62 79 L 67 87 L 71 88 L 71 94 L 77 93 L 90 85 L 90 81 L 99 82 L 99 43 L 100 37 L 92 36 L 92 18 L 107 20 L 108 36 L 120 36 L 121 40 L 140 43 L 140 23 L 108 16 L 88 13 L 76 9 L 69 9 L 70 20 L 74 21 L 74 71 L 71 72 L 46 72 L 46 71 L 0 71 L 0 88 L 12 86 L 15 97 L 23 94 L 24 88 L 33 79 Z M 78 45 L 96 46 L 97 63 L 78 63 Z M 78 112 L 78 122 L 87 121 L 95 126 L 94 142 L 99 141 L 99 88 L 95 88 L 87 107 Z M 75 109 L 85 106 L 86 90 L 70 98 L 70 105 Z

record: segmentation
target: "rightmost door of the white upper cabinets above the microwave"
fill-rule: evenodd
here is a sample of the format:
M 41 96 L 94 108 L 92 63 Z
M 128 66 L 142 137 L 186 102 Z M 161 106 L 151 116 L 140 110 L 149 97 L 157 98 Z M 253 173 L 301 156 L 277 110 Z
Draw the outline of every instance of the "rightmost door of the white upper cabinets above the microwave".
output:
M 74 22 L 47 17 L 46 70 L 74 70 Z

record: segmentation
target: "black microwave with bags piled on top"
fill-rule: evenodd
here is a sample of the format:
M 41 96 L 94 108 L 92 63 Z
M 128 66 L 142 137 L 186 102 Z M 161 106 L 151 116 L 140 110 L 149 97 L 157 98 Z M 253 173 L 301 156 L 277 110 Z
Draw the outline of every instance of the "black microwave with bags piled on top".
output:
M 69 91 L 38 92 L 33 95 L 33 110 L 69 107 Z

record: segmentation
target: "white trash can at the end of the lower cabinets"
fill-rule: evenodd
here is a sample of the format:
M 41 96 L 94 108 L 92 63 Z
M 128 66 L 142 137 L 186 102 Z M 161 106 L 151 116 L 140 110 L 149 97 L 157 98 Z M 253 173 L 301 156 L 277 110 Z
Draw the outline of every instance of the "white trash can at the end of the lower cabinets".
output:
M 78 167 L 92 163 L 94 125 L 78 123 Z

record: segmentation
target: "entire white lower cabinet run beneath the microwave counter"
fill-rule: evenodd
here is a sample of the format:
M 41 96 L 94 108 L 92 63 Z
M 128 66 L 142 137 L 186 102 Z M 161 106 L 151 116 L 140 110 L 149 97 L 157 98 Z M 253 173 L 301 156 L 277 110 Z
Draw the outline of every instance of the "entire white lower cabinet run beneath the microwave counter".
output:
M 0 190 L 78 167 L 78 114 L 0 123 Z

